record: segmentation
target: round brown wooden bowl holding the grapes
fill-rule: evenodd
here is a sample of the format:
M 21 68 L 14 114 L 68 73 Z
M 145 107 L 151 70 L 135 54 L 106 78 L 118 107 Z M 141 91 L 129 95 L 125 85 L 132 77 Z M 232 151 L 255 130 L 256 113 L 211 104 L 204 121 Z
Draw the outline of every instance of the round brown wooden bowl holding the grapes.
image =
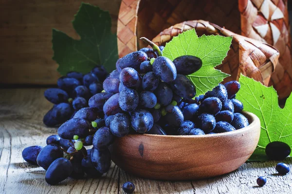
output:
M 160 180 L 215 177 L 236 170 L 256 149 L 260 121 L 243 113 L 250 125 L 210 135 L 131 134 L 110 147 L 112 161 L 128 173 Z

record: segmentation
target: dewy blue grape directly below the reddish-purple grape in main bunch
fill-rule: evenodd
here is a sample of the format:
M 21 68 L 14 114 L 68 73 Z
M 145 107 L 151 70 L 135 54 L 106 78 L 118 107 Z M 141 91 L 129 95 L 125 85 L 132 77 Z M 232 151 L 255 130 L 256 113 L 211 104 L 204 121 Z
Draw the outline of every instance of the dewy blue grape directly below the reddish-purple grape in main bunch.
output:
M 126 88 L 120 92 L 119 105 L 123 111 L 134 111 L 139 103 L 139 95 L 134 89 Z

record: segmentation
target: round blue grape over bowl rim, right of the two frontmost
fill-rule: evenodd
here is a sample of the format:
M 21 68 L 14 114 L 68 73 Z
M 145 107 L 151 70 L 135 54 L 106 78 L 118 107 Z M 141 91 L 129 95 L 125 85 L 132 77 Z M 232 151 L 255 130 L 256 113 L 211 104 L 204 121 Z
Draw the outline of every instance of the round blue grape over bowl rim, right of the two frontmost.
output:
M 131 114 L 132 128 L 138 133 L 145 133 L 153 127 L 153 116 L 146 110 L 137 110 Z

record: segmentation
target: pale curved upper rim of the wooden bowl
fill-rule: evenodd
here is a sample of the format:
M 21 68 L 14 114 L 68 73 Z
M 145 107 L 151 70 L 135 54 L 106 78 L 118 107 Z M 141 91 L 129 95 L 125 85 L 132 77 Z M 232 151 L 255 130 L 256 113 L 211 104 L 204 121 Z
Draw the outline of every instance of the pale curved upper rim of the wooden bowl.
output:
M 170 138 L 170 137 L 174 137 L 174 138 L 214 138 L 214 137 L 222 137 L 222 136 L 230 136 L 230 135 L 235 135 L 237 133 L 242 133 L 242 132 L 246 132 L 250 129 L 253 129 L 256 127 L 257 123 L 260 123 L 259 118 L 256 116 L 256 114 L 251 113 L 251 112 L 247 112 L 247 111 L 243 111 L 242 112 L 243 115 L 247 116 L 250 124 L 244 128 L 241 129 L 237 129 L 235 131 L 228 131 L 228 132 L 224 132 L 224 133 L 215 133 L 215 134 L 205 134 L 205 135 L 156 135 L 156 134 L 128 134 L 127 136 L 131 136 L 131 137 L 135 137 L 135 136 L 140 136 L 144 135 L 144 136 L 149 136 L 149 137 L 165 137 L 165 138 Z

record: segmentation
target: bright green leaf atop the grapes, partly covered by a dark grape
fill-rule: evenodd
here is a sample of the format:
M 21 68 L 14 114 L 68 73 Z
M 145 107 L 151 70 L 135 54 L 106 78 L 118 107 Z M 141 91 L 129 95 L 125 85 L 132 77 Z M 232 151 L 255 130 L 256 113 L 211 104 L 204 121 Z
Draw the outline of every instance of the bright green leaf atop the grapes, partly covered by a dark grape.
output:
M 230 76 L 214 69 L 227 56 L 232 37 L 202 35 L 198 37 L 195 29 L 185 31 L 166 43 L 163 56 L 174 60 L 183 55 L 194 55 L 202 60 L 202 67 L 187 77 L 195 84 L 196 96 L 205 94 Z

